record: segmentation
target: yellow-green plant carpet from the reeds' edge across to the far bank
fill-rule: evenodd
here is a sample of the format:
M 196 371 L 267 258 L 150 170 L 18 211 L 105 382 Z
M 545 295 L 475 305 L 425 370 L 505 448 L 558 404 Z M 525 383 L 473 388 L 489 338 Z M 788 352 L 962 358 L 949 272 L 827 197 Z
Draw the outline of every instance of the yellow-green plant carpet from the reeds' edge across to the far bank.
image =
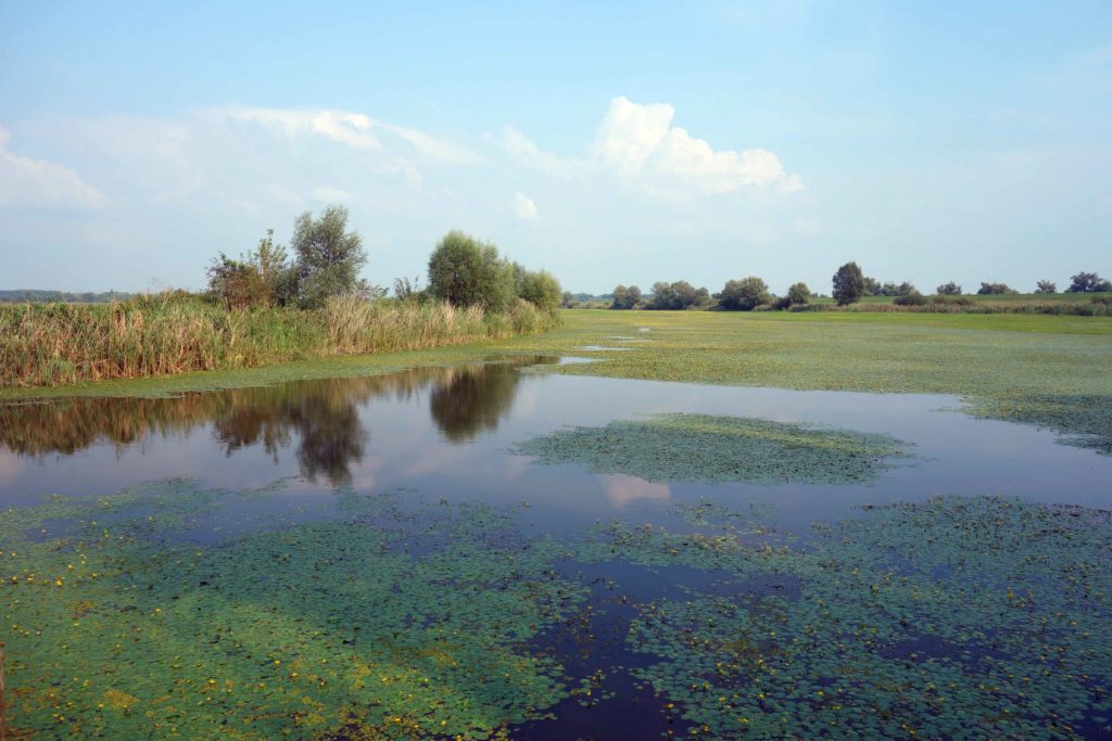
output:
M 596 362 L 556 371 L 801 390 L 953 394 L 971 401 L 974 413 L 1049 427 L 1112 452 L 1112 318 L 704 311 L 565 311 L 563 317 L 560 329 L 544 334 L 83 387 L 9 388 L 0 389 L 0 399 L 157 397 L 370 375 L 499 354 L 584 356 Z M 582 349 L 587 346 L 638 349 Z

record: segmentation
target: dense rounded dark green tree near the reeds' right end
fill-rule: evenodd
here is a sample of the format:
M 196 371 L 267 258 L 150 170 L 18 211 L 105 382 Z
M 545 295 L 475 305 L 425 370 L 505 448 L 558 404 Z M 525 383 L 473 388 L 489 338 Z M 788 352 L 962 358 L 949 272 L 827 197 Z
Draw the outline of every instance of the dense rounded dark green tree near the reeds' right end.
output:
M 449 231 L 428 258 L 429 292 L 456 307 L 502 312 L 517 296 L 513 266 L 498 248 L 461 231 Z

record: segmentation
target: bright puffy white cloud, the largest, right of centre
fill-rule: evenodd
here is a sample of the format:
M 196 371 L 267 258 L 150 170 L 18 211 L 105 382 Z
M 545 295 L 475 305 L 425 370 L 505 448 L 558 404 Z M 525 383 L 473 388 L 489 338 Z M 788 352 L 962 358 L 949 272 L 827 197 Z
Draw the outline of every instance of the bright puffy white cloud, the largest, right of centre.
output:
M 794 192 L 803 188 L 800 177 L 785 172 L 780 159 L 768 150 L 716 150 L 706 140 L 673 126 L 675 114 L 675 108 L 667 103 L 642 104 L 615 98 L 586 160 L 542 151 L 513 127 L 503 130 L 500 143 L 523 164 L 559 174 L 610 172 L 657 194 L 715 194 L 742 188 Z

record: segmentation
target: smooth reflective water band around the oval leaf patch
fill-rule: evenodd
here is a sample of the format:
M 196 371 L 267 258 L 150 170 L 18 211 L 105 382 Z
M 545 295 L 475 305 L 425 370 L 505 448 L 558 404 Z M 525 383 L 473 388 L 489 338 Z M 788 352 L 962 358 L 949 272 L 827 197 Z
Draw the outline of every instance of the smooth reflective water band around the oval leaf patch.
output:
M 321 514 L 329 499 L 317 494 L 348 485 L 497 504 L 527 501 L 534 522 L 562 532 L 612 518 L 666 521 L 673 504 L 699 498 L 767 503 L 777 527 L 798 532 L 852 515 L 854 505 L 933 494 L 1003 493 L 1112 507 L 1112 457 L 1056 444 L 1050 431 L 960 413 L 962 402 L 953 397 L 543 372 L 557 362 L 514 359 L 170 399 L 0 405 L 0 505 L 188 477 L 228 489 L 288 479 L 284 498 L 316 501 Z M 529 458 L 513 453 L 515 443 L 562 427 L 668 412 L 883 432 L 911 443 L 915 459 L 860 487 L 701 485 L 530 465 Z

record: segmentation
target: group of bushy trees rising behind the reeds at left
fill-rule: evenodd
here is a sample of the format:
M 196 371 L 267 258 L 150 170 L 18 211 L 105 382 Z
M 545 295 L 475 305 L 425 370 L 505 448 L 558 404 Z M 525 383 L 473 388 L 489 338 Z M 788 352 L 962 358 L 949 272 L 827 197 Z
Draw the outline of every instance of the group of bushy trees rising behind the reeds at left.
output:
M 348 211 L 329 207 L 319 218 L 306 211 L 294 222 L 290 250 L 267 230 L 258 246 L 238 259 L 220 252 L 207 268 L 210 299 L 228 310 L 257 307 L 317 309 L 332 297 L 384 299 L 389 290 L 359 278 L 367 250 L 358 231 L 348 230 Z M 404 301 L 445 301 L 455 307 L 480 307 L 502 313 L 517 301 L 544 311 L 560 303 L 560 286 L 545 270 L 526 270 L 498 252 L 493 242 L 461 231 L 448 232 L 428 259 L 428 287 L 419 280 L 394 281 L 395 298 Z

